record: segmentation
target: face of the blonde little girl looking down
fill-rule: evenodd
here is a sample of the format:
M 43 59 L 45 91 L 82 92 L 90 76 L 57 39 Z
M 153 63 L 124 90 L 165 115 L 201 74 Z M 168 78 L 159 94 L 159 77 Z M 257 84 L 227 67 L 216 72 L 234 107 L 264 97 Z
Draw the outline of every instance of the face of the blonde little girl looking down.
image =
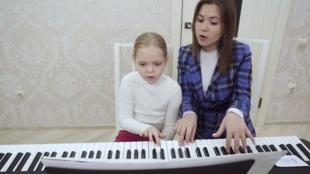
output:
M 162 75 L 167 61 L 163 49 L 151 45 L 139 48 L 135 64 L 140 76 L 153 84 Z

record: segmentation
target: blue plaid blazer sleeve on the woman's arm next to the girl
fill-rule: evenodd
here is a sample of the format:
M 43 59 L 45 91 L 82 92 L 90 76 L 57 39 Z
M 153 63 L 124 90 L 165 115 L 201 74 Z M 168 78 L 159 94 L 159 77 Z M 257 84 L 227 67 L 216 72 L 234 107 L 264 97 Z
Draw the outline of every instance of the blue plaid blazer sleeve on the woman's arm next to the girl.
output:
M 185 61 L 182 60 L 182 57 L 186 57 L 186 55 L 184 54 L 186 53 L 182 53 L 179 50 L 178 64 L 177 64 L 177 70 L 178 70 L 177 81 L 181 86 L 182 90 L 182 103 L 179 109 L 179 118 L 183 118 L 183 114 L 185 112 L 188 111 L 194 112 L 193 90 L 190 88 L 190 69 L 186 63 L 186 60 Z

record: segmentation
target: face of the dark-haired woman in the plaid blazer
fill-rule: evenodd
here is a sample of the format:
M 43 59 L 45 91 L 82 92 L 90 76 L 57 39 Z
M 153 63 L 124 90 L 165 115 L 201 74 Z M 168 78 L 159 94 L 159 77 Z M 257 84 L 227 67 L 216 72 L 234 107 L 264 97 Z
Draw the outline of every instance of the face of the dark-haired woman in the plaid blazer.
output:
M 195 32 L 199 45 L 206 52 L 217 49 L 221 38 L 220 8 L 215 5 L 203 4 L 195 21 Z

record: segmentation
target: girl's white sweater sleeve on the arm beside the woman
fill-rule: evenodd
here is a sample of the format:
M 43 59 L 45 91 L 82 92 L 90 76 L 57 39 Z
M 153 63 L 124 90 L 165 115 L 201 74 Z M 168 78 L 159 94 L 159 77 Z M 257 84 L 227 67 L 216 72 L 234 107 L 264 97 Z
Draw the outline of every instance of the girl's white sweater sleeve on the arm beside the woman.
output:
M 166 140 L 172 140 L 175 136 L 174 126 L 178 118 L 180 104 L 182 103 L 182 90 L 178 84 L 175 86 L 176 88 L 171 89 L 174 91 L 172 93 L 174 95 L 171 97 L 167 107 L 166 120 L 162 130 L 162 133 L 167 135 Z

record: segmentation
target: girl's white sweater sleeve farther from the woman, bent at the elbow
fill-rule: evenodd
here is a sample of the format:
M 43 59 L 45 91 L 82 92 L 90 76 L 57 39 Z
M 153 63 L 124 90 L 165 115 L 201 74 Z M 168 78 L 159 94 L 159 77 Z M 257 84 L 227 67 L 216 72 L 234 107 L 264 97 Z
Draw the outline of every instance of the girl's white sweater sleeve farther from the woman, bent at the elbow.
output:
M 119 89 L 119 124 L 123 130 L 131 132 L 133 134 L 140 134 L 151 125 L 139 122 L 134 118 L 135 101 L 131 87 L 131 78 L 128 78 L 128 76 L 124 76 Z

